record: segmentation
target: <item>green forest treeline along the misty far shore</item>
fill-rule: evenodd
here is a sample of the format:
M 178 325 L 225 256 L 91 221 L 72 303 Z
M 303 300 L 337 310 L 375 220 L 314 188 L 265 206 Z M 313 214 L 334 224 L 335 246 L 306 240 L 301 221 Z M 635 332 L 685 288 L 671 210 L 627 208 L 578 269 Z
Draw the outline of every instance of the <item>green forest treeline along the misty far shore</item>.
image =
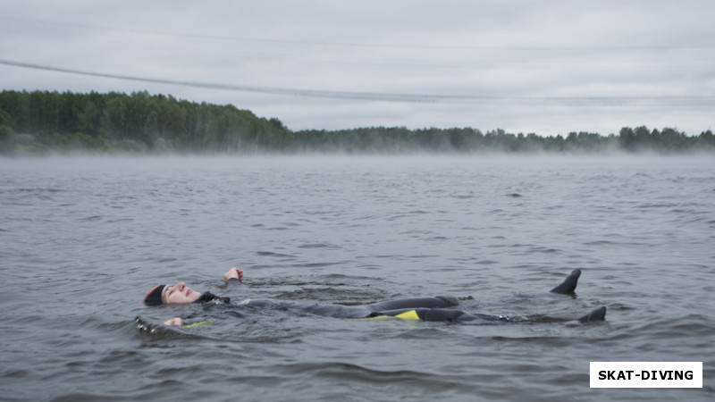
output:
M 562 153 L 715 152 L 711 130 L 624 127 L 618 134 L 534 133 L 473 128 L 371 127 L 298 130 L 233 105 L 211 105 L 147 92 L 78 94 L 0 92 L 0 155 L 76 151 L 101 154 Z

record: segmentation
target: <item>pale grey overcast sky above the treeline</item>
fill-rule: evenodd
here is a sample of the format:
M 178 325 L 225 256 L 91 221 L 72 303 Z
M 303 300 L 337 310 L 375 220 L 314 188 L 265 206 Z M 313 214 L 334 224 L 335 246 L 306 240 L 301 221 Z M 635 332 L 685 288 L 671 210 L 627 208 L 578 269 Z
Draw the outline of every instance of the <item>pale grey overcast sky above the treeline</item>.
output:
M 3 0 L 0 89 L 146 90 L 291 130 L 696 135 L 715 130 L 713 16 L 711 0 Z

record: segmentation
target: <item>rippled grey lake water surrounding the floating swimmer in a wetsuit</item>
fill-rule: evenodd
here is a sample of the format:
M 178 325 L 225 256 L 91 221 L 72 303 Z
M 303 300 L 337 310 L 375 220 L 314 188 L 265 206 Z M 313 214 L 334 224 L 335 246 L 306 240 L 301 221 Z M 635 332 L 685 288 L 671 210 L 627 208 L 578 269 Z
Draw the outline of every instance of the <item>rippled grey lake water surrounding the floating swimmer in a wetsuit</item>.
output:
M 0 160 L 4 400 L 711 400 L 712 158 Z M 229 267 L 240 289 L 221 287 Z M 574 268 L 577 297 L 544 292 Z M 139 331 L 233 297 L 453 295 L 517 322 L 247 314 Z M 607 322 L 568 325 L 608 306 Z M 531 321 L 524 321 L 528 317 Z M 703 389 L 589 389 L 590 361 L 702 361 Z

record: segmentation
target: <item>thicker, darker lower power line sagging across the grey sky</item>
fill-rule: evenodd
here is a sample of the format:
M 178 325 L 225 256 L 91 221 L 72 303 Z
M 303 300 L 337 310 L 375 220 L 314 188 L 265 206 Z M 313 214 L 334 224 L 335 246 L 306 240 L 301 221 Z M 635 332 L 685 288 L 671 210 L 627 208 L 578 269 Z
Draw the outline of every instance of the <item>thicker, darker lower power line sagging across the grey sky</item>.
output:
M 55 71 L 69 74 L 99 77 L 115 80 L 130 80 L 153 84 L 176 85 L 192 88 L 222 89 L 237 92 L 252 92 L 265 95 L 326 97 L 333 99 L 374 100 L 408 103 L 517 103 L 525 105 L 567 104 L 567 105 L 654 105 L 654 106 L 708 106 L 715 105 L 715 96 L 474 96 L 474 95 L 434 95 L 400 94 L 357 91 L 331 91 L 323 89 L 274 88 L 249 85 L 219 84 L 184 80 L 163 80 L 114 74 L 97 71 L 82 71 L 44 64 L 23 63 L 0 59 L 0 64 L 25 69 Z

